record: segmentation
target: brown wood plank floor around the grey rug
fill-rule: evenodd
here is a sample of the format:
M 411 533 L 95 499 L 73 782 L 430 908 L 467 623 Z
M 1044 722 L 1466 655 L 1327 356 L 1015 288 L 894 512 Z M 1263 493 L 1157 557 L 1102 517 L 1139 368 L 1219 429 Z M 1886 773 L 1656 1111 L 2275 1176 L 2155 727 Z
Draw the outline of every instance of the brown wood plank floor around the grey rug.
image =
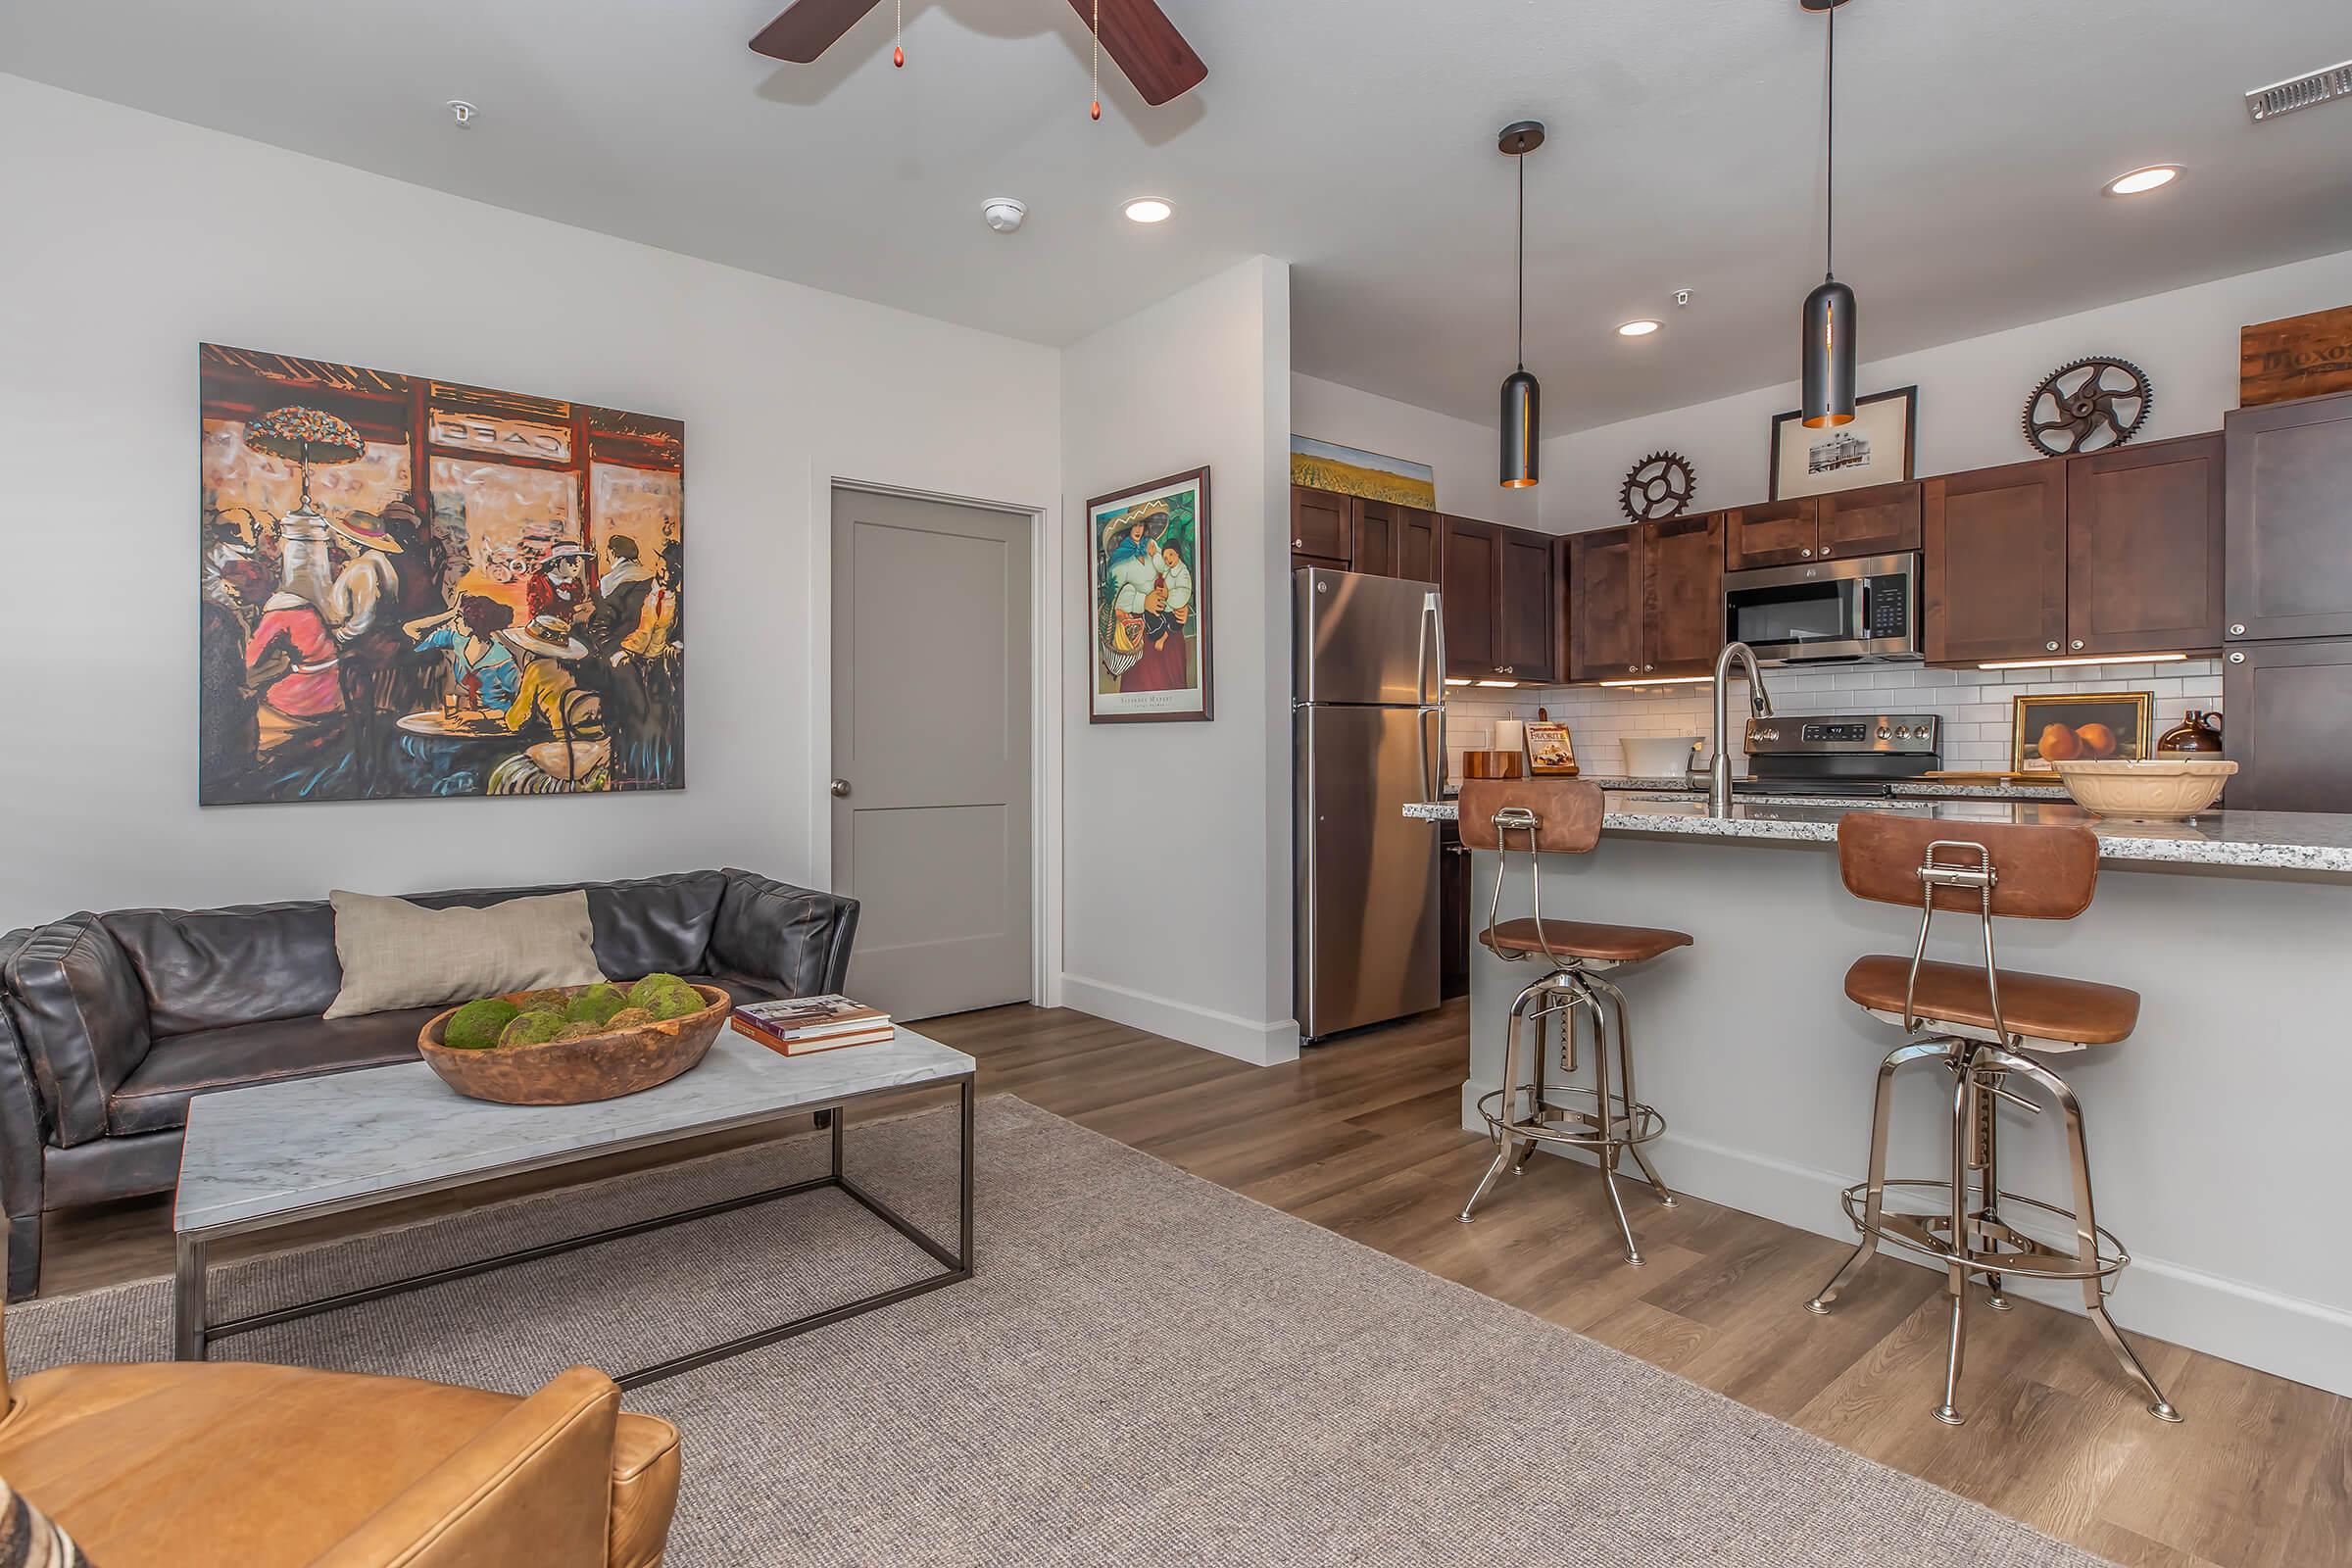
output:
M 1804 1302 L 1846 1244 L 1698 1199 L 1658 1208 L 1628 1187 L 1649 1260 L 1632 1269 L 1592 1171 L 1559 1159 L 1505 1180 L 1475 1225 L 1456 1222 L 1489 1159 L 1489 1145 L 1458 1128 L 1461 1004 L 1284 1067 L 1244 1067 L 1030 1006 L 934 1018 L 922 1030 L 981 1060 L 983 1093 L 1016 1093 L 2117 1563 L 2352 1566 L 2347 1399 L 2136 1335 L 2187 1415 L 2166 1427 L 2089 1324 L 2018 1302 L 2009 1314 L 1973 1314 L 1969 1425 L 1950 1429 L 1929 1418 L 1945 1345 L 1943 1281 L 1929 1269 L 1875 1262 L 1835 1314 L 1813 1316 Z M 630 1157 L 597 1173 L 623 1168 Z M 1672 1182 L 1670 1164 L 1663 1175 Z M 501 1192 L 543 1185 L 522 1178 Z M 477 1190 L 466 1201 L 487 1197 L 496 1194 Z M 397 1220 L 435 1213 L 435 1204 L 454 1199 L 426 1199 Z M 334 1234 L 332 1222 L 320 1234 Z M 52 1293 L 162 1272 L 167 1201 L 52 1220 Z M 2129 1288 L 2122 1319 L 2129 1328 Z M 1465 1387 L 1486 1375 L 1463 1368 Z

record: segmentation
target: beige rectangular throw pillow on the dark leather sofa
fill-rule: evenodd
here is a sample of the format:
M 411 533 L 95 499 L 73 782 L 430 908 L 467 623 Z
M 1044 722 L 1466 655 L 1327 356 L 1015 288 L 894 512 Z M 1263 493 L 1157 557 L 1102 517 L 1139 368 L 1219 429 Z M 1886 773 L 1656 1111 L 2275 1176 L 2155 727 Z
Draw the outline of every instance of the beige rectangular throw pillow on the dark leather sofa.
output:
M 541 985 L 595 985 L 588 893 L 428 910 L 407 898 L 327 893 L 343 990 L 327 1018 L 449 1006 Z

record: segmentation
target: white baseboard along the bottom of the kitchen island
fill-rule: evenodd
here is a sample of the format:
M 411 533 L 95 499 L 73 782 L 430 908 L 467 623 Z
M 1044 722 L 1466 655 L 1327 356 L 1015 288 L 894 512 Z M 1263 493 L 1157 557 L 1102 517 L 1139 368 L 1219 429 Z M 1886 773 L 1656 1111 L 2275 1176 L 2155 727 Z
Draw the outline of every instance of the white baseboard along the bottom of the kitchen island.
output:
M 1475 1079 L 1463 1084 L 1463 1131 L 1486 1131 L 1486 1121 L 1477 1114 L 1477 1100 L 1491 1091 L 1494 1084 Z M 1748 1150 L 1686 1138 L 1672 1128 L 1658 1143 L 1649 1145 L 1649 1150 L 1658 1175 L 1675 1192 L 1689 1192 L 1724 1208 L 1795 1225 L 1818 1237 L 1853 1241 L 1853 1225 L 1846 1220 L 1839 1194 L 1860 1180 L 1858 1171 L 1849 1175 L 1797 1166 Z M 1585 1164 L 1592 1161 L 1583 1150 L 1545 1152 L 1583 1159 Z M 1637 1190 L 1644 1187 L 1637 1182 Z M 1639 1232 L 1639 1211 L 1632 1213 L 1635 1229 Z M 1933 1267 L 1924 1258 L 1912 1258 L 1891 1246 L 1882 1246 L 1879 1258 Z M 1828 1274 L 1823 1274 L 1823 1284 L 1828 1284 Z M 2079 1286 L 2060 1286 L 2046 1279 L 2011 1279 L 2009 1288 L 2013 1295 L 2027 1300 L 2039 1300 L 2065 1312 L 2082 1312 Z M 1804 1302 L 1790 1302 L 1790 1309 L 1802 1312 Z M 2352 1396 L 2352 1312 L 2145 1255 L 2136 1255 L 2131 1267 L 2124 1269 L 2107 1309 L 2129 1333 L 2147 1333 L 2173 1345 L 2201 1349 L 2209 1356 Z M 2187 1415 L 2194 1420 L 2194 1410 Z

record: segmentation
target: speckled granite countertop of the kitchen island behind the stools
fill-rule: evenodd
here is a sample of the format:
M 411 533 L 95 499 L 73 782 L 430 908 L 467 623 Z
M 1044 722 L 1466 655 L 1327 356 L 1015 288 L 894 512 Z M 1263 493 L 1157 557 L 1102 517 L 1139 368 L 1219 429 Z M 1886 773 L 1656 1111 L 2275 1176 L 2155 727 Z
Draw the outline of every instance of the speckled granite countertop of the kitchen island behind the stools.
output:
M 2100 820 L 2056 799 L 1910 799 L 1910 802 L 1771 802 L 1745 799 L 1729 818 L 1708 816 L 1708 802 L 1656 790 L 1611 790 L 1604 832 L 1644 837 L 1778 839 L 1837 844 L 1837 818 L 1849 811 L 1900 811 L 1938 823 L 2086 823 L 2100 858 L 2114 865 L 2201 865 L 2352 877 L 2352 816 L 2317 811 L 2206 811 L 2187 823 Z M 1454 802 L 1416 802 L 1404 816 L 1451 823 Z

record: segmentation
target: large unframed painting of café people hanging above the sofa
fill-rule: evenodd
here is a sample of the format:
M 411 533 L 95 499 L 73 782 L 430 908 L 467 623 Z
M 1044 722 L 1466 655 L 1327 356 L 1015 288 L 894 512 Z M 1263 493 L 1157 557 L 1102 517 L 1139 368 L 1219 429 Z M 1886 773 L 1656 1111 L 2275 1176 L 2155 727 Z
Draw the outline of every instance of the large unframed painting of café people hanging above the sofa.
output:
M 202 804 L 684 788 L 682 423 L 198 367 Z

